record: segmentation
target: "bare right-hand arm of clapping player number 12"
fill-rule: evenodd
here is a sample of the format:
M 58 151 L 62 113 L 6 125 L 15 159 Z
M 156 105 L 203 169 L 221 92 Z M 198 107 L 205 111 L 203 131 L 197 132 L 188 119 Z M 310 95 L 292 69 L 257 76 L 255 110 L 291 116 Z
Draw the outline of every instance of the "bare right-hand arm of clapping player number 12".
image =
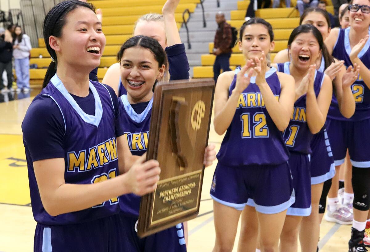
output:
M 280 131 L 283 131 L 288 126 L 290 117 L 293 113 L 295 97 L 294 78 L 285 73 L 277 73 L 281 84 L 281 92 L 279 100 L 276 100 L 275 95 L 272 93 L 272 90 L 265 79 L 266 68 L 267 64 L 265 55 L 263 54 L 263 57 L 261 57 L 260 59 L 256 57 L 256 84 L 261 91 L 266 109 L 269 112 L 270 117 L 272 118 L 276 127 Z

